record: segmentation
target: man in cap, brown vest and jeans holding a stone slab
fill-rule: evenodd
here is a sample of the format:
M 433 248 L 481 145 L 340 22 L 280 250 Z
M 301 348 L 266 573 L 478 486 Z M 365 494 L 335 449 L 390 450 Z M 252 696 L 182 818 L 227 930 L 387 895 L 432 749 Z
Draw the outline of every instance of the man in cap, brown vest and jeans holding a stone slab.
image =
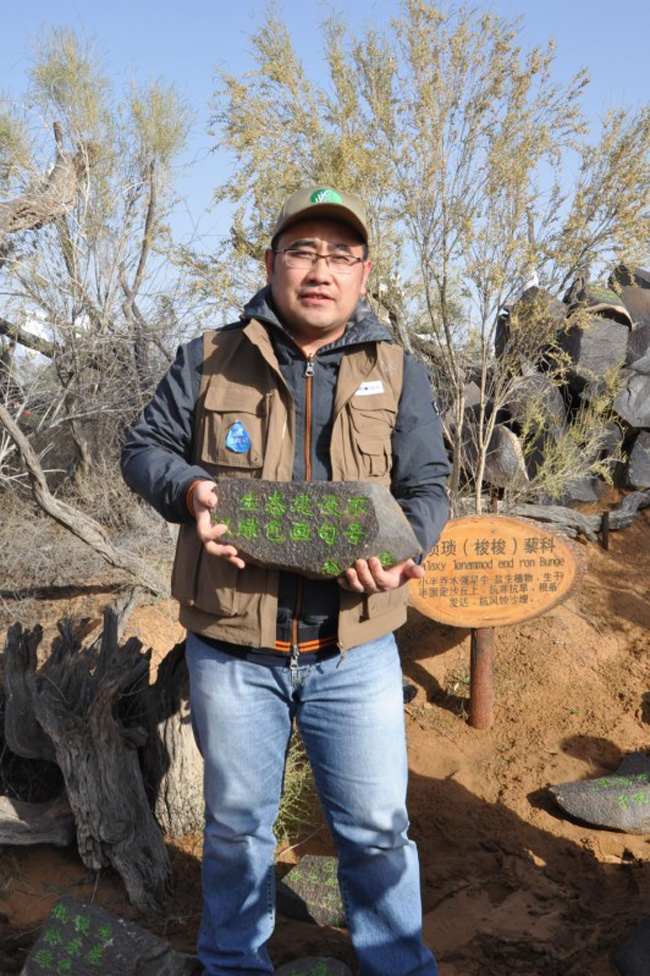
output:
M 440 422 L 426 370 L 363 301 L 367 241 L 356 197 L 289 197 L 267 286 L 240 322 L 181 347 L 124 448 L 130 487 L 182 523 L 172 590 L 205 760 L 209 976 L 273 972 L 273 824 L 294 719 L 337 846 L 360 976 L 437 973 L 420 938 L 392 633 L 423 570 L 370 558 L 337 581 L 271 572 L 246 565 L 210 519 L 220 477 L 369 479 L 390 486 L 423 551 L 437 540 L 448 514 Z

